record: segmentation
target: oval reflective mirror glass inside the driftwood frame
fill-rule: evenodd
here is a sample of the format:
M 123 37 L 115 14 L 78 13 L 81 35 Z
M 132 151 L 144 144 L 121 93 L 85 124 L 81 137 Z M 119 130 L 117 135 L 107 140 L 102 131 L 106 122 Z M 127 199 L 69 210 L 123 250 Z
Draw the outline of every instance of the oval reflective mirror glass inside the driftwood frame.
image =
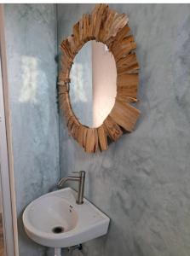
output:
M 70 73 L 72 110 L 81 124 L 99 127 L 111 112 L 117 93 L 117 69 L 106 44 L 91 40 L 78 51 Z

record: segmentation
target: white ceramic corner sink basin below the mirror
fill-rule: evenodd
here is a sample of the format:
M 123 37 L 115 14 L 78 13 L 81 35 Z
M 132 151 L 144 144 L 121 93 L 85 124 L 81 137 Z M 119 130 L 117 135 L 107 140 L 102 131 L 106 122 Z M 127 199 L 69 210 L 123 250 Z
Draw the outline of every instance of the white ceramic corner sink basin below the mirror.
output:
M 110 219 L 77 193 L 60 189 L 32 201 L 23 213 L 26 234 L 46 247 L 72 247 L 107 234 Z

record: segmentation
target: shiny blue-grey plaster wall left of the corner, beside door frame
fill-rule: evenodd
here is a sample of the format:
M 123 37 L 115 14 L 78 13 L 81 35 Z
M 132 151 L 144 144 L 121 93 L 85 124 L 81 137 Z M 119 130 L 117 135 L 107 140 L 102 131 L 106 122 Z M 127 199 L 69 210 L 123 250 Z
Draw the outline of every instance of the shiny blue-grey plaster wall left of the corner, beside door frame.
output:
M 20 256 L 45 255 L 27 238 L 26 205 L 60 177 L 54 4 L 6 4 L 9 94 Z

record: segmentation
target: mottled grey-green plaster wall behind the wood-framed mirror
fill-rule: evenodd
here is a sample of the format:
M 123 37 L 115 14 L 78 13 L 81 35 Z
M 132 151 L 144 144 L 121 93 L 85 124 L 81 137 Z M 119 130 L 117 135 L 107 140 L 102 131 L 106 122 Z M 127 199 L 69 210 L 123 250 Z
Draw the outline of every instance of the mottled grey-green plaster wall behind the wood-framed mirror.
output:
M 58 5 L 59 43 L 92 7 Z M 61 175 L 85 170 L 86 197 L 112 219 L 81 255 L 189 256 L 190 5 L 111 7 L 129 15 L 135 35 L 141 119 L 100 154 L 83 153 L 60 122 Z

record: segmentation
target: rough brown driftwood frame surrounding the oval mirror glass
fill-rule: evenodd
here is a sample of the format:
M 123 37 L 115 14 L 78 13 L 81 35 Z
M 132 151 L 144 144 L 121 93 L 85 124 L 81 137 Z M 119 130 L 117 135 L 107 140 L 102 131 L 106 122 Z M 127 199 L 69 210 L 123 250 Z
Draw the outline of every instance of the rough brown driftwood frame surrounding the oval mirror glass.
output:
M 61 71 L 59 75 L 60 109 L 66 116 L 69 135 L 72 136 L 87 153 L 107 150 L 107 137 L 117 141 L 123 131 L 133 131 L 140 111 L 130 103 L 137 102 L 138 70 L 136 44 L 127 15 L 119 15 L 109 9 L 107 4 L 97 4 L 91 14 L 83 15 L 74 26 L 72 35 L 60 44 Z M 72 61 L 83 44 L 95 40 L 107 44 L 112 52 L 117 68 L 117 96 L 111 113 L 97 128 L 81 124 L 72 111 L 69 97 L 70 71 Z

